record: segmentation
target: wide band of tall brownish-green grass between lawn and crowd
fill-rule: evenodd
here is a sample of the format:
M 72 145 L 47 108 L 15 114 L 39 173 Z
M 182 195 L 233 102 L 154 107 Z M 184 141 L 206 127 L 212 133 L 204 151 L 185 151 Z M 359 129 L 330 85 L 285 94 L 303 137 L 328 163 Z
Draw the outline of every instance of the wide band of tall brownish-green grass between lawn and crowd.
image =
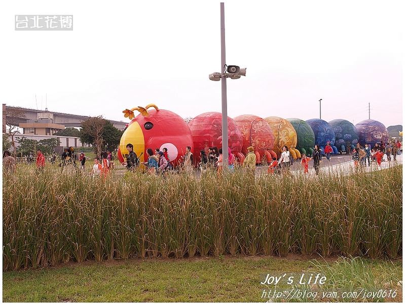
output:
M 402 166 L 200 179 L 19 168 L 3 182 L 4 270 L 134 256 L 402 253 Z

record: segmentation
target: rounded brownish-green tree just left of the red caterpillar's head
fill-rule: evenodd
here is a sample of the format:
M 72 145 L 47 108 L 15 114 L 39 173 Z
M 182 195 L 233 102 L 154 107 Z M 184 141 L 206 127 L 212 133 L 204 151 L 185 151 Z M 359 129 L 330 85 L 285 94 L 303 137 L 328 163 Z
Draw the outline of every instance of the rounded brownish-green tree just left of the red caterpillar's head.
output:
M 82 143 L 91 144 L 97 156 L 103 149 L 111 151 L 117 149 L 122 132 L 103 117 L 93 117 L 82 122 L 80 140 Z

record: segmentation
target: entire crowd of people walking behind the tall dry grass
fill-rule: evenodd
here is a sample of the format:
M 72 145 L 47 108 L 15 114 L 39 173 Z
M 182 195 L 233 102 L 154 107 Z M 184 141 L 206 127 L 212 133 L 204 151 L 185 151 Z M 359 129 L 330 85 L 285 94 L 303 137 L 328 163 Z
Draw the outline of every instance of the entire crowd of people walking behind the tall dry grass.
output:
M 354 161 L 354 166 L 357 169 L 360 166 L 370 166 L 372 162 L 376 162 L 378 166 L 381 166 L 381 163 L 384 156 L 387 157 L 387 161 L 390 162 L 391 160 L 396 161 L 396 156 L 399 155 L 399 150 L 401 147 L 401 143 L 398 140 L 394 142 L 388 143 L 376 143 L 373 147 L 370 147 L 369 144 L 365 144 L 364 147 L 357 143 L 356 147 L 352 151 L 352 160 Z M 165 176 L 168 171 L 174 169 L 173 164 L 170 160 L 170 156 L 168 154 L 168 150 L 166 147 L 162 149 L 156 148 L 153 150 L 152 148 L 146 149 L 146 155 L 148 156 L 146 162 L 140 162 L 140 158 L 143 153 L 140 154 L 138 157 L 133 150 L 133 145 L 128 143 L 126 146 L 128 150 L 128 154 L 125 155 L 125 161 L 122 163 L 124 167 L 128 171 L 134 171 L 135 169 L 139 168 L 140 165 L 145 167 L 145 170 L 150 174 L 161 174 Z M 185 171 L 187 173 L 193 173 L 195 170 L 195 158 L 193 153 L 191 152 L 191 147 L 185 147 L 186 153 L 181 156 L 181 164 L 177 166 L 178 170 Z M 330 143 L 324 148 L 324 154 L 326 156 L 327 162 L 330 161 L 330 155 L 333 154 L 333 149 Z M 235 165 L 237 164 L 237 160 L 234 154 L 232 154 L 231 149 L 228 147 L 228 170 L 233 172 L 235 169 Z M 86 171 L 86 160 L 89 159 L 85 156 L 84 153 L 80 153 L 79 157 L 75 153 L 75 148 L 70 146 L 65 148 L 61 157 L 61 162 L 59 163 L 59 167 L 62 168 L 62 172 L 67 170 L 68 168 L 72 170 L 80 170 L 85 172 Z M 205 172 L 207 170 L 217 172 L 219 175 L 223 172 L 224 166 L 224 158 L 223 158 L 223 150 L 222 148 L 209 147 L 206 150 L 200 151 L 200 162 L 198 163 L 198 168 L 201 172 Z M 33 158 L 33 157 L 32 157 Z M 54 151 L 52 157 L 50 159 L 51 163 L 54 164 L 56 162 L 57 155 Z M 46 158 L 43 155 L 41 149 L 36 150 L 36 171 L 41 173 L 44 171 L 46 162 Z M 318 144 L 315 144 L 313 153 L 311 156 L 307 156 L 306 154 L 302 154 L 301 156 L 301 166 L 303 168 L 304 173 L 308 173 L 309 162 L 313 160 L 313 167 L 315 169 L 315 174 L 318 175 L 320 171 L 320 163 L 322 160 L 322 151 Z M 79 166 L 77 165 L 77 161 L 79 161 Z M 269 174 L 290 174 L 290 167 L 294 159 L 292 158 L 291 154 L 288 151 L 288 147 L 284 145 L 282 147 L 282 153 L 280 158 L 273 158 L 268 166 L 267 172 Z M 7 170 L 15 171 L 16 168 L 16 160 L 11 156 L 10 151 L 4 151 L 3 154 L 3 166 Z M 252 146 L 247 147 L 247 154 L 245 159 L 242 163 L 242 168 L 250 171 L 253 175 L 256 168 L 256 154 L 254 153 L 254 148 Z M 93 167 L 90 170 L 90 174 L 93 176 L 107 176 L 111 170 L 114 169 L 114 156 L 111 151 L 106 150 L 102 151 L 100 157 L 95 157 L 93 159 Z

